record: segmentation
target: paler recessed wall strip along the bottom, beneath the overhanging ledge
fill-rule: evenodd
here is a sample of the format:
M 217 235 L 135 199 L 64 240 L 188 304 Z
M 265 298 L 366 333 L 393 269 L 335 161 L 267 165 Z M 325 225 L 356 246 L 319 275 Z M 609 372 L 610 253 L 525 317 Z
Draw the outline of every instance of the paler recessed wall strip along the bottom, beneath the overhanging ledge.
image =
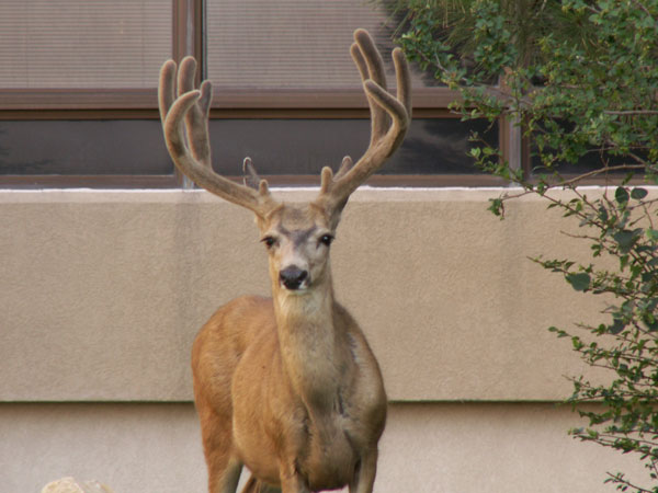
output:
M 601 493 L 605 472 L 646 473 L 580 444 L 552 404 L 393 404 L 375 493 Z M 192 404 L 0 404 L 0 491 L 95 479 L 115 493 L 202 493 Z M 246 475 L 246 474 L 245 474 Z

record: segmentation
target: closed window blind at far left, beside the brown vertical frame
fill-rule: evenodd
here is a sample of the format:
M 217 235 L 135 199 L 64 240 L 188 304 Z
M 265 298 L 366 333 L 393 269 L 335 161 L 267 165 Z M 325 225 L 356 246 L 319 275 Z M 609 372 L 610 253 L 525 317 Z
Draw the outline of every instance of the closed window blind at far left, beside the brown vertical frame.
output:
M 0 88 L 154 88 L 172 0 L 1 0 Z

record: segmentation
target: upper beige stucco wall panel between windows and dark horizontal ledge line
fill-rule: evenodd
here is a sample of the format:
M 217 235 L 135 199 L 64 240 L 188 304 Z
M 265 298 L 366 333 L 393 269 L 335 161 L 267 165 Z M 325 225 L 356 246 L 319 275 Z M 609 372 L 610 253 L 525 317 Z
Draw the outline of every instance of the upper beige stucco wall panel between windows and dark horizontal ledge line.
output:
M 549 401 L 582 364 L 546 328 L 601 301 L 526 257 L 583 251 L 500 190 L 363 190 L 332 251 L 394 401 Z M 280 191 L 288 200 L 309 191 Z M 266 294 L 251 214 L 205 192 L 0 193 L 0 401 L 186 401 L 197 329 Z M 587 249 L 585 249 L 587 251 Z

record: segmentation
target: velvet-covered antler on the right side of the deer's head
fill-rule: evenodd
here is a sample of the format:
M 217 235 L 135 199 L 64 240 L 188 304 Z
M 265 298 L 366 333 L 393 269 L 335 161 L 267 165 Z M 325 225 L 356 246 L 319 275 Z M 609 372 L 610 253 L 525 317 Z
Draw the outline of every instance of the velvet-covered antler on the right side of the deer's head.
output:
M 365 30 L 356 30 L 354 41 L 351 54 L 370 105 L 371 142 L 353 167 L 348 156 L 336 175 L 330 168 L 322 169 L 318 202 L 338 213 L 345 206 L 352 192 L 400 146 L 411 121 L 411 82 L 405 54 L 399 48 L 393 50 L 397 79 L 397 96 L 394 96 L 386 89 L 384 62 L 371 35 Z

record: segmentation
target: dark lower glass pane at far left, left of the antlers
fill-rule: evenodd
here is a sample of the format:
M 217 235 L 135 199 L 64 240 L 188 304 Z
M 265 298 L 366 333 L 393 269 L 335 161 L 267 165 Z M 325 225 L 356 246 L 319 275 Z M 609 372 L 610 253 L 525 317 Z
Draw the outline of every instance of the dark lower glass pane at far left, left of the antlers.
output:
M 172 173 L 159 121 L 0 122 L 0 175 Z

